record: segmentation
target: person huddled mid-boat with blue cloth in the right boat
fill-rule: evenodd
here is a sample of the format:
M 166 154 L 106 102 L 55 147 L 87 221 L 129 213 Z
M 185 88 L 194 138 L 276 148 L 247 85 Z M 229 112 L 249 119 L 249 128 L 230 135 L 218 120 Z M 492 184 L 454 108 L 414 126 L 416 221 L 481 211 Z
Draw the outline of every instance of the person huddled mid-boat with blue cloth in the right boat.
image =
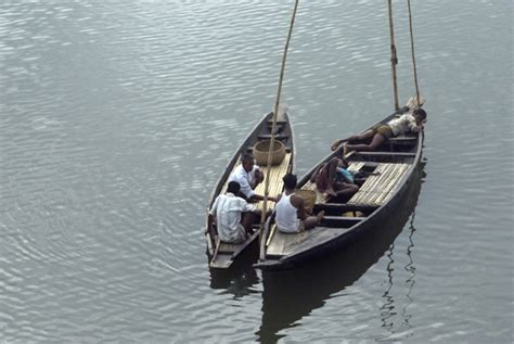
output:
M 319 192 L 326 199 L 343 196 L 349 200 L 359 187 L 354 182 L 354 176 L 347 170 L 348 164 L 343 158 L 333 157 L 329 163 L 321 164 L 310 177 Z

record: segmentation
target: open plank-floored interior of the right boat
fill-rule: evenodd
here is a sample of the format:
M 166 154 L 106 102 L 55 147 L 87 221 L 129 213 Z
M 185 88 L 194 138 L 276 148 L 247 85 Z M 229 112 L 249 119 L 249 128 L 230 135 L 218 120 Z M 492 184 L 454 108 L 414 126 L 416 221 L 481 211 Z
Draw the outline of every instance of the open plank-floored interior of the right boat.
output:
M 415 160 L 417 136 L 387 140 L 375 152 L 350 152 L 346 158 L 348 170 L 355 176 L 359 191 L 349 200 L 326 198 L 316 184 L 307 181 L 301 189 L 317 193 L 313 213 L 325 212 L 320 226 L 299 233 L 282 233 L 273 224 L 266 242 L 267 258 L 280 258 L 303 251 L 317 242 L 339 235 L 367 219 L 385 204 L 403 182 L 403 177 Z M 305 180 L 305 178 L 304 178 Z

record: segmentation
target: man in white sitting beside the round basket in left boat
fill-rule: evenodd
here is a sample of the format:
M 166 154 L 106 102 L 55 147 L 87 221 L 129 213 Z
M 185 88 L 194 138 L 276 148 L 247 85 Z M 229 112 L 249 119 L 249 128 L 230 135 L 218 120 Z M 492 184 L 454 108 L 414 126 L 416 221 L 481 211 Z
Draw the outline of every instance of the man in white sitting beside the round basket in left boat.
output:
M 256 203 L 265 199 L 254 191 L 262 180 L 265 180 L 265 176 L 259 166 L 255 165 L 254 156 L 249 153 L 243 153 L 241 156 L 241 165 L 229 176 L 229 181 L 237 181 L 241 186 L 237 195 L 250 203 Z M 275 198 L 269 196 L 268 200 L 277 202 Z

